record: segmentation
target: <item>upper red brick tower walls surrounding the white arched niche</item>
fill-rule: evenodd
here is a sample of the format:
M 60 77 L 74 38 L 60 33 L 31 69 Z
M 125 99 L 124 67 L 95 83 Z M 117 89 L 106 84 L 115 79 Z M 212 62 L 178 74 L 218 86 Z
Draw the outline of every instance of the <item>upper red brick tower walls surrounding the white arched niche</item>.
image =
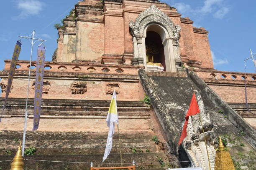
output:
M 98 3 L 97 3 L 98 2 Z M 73 57 L 68 53 L 65 38 L 70 33 L 77 37 L 76 59 L 98 60 L 104 55 L 120 55 L 133 52 L 132 36 L 129 22 L 146 8 L 155 5 L 162 10 L 175 25 L 182 27 L 180 36 L 180 51 L 189 60 L 201 61 L 200 67 L 213 68 L 210 46 L 207 34 L 203 28 L 193 28 L 189 18 L 181 18 L 177 9 L 160 1 L 79 1 L 76 5 L 76 31 L 70 26 L 74 22 L 67 18 L 64 21 L 64 31 L 59 29 L 57 61 L 71 62 Z M 67 27 L 67 28 L 66 28 Z M 126 64 L 130 64 L 127 62 Z

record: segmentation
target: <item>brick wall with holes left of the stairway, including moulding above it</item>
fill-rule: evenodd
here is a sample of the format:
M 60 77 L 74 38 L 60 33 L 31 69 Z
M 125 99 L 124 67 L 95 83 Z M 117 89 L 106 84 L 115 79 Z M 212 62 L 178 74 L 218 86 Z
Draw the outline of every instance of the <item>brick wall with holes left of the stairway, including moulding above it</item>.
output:
M 1 82 L 7 85 L 8 70 L 0 72 Z M 9 97 L 26 97 L 28 71 L 16 70 L 13 79 L 13 89 Z M 59 77 L 59 78 L 58 78 Z M 64 78 L 65 77 L 65 78 Z M 34 97 L 35 72 L 31 72 L 29 97 Z M 118 100 L 138 101 L 138 76 L 122 74 L 97 74 L 97 73 L 74 73 L 74 72 L 45 72 L 44 82 L 49 83 L 49 92 L 43 94 L 43 98 L 49 99 L 79 99 L 79 100 L 109 100 L 111 92 L 118 90 Z M 84 94 L 72 94 L 73 83 L 85 83 L 87 91 Z M 131 95 L 131 92 L 133 95 Z M 5 97 L 5 92 L 1 94 Z

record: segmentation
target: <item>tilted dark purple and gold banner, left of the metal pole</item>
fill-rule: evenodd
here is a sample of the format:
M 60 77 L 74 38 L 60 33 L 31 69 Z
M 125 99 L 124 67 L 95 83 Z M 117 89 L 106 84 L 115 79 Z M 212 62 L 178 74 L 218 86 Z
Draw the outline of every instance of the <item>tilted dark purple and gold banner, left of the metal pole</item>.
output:
M 8 76 L 8 84 L 7 84 L 6 94 L 5 94 L 5 102 L 4 102 L 4 105 L 3 105 L 3 110 L 2 110 L 2 113 L 1 113 L 1 117 L 0 117 L 0 122 L 1 122 L 1 119 L 2 119 L 3 111 L 5 109 L 5 105 L 6 105 L 9 93 L 10 93 L 10 88 L 11 88 L 12 83 L 13 83 L 13 75 L 14 75 L 14 72 L 15 72 L 18 57 L 20 55 L 20 50 L 21 50 L 21 42 L 17 41 L 17 43 L 15 45 L 15 48 L 14 48 L 14 52 L 13 52 L 13 58 L 12 58 L 12 61 L 11 61 L 11 64 L 10 64 L 10 72 L 9 72 L 9 76 Z

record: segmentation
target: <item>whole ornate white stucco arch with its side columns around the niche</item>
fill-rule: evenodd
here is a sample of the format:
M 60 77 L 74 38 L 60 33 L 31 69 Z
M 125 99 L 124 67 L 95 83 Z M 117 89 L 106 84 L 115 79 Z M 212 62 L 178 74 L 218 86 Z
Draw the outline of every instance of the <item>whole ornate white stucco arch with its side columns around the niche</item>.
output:
M 179 32 L 181 27 L 174 25 L 172 20 L 155 5 L 142 11 L 135 22 L 130 21 L 129 27 L 133 36 L 133 64 L 144 65 L 146 67 L 146 31 L 150 25 L 158 26 L 163 33 L 157 32 L 165 47 L 164 54 L 169 61 L 166 71 L 179 70 L 182 61 L 179 54 Z M 147 68 L 146 68 L 147 69 Z

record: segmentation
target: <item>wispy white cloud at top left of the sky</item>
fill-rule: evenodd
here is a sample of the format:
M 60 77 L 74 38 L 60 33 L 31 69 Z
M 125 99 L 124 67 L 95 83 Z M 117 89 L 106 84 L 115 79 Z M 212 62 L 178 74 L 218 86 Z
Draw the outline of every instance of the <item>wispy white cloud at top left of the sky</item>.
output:
M 16 18 L 27 18 L 30 15 L 38 15 L 43 9 L 44 3 L 39 0 L 18 0 L 17 8 L 21 10 Z

